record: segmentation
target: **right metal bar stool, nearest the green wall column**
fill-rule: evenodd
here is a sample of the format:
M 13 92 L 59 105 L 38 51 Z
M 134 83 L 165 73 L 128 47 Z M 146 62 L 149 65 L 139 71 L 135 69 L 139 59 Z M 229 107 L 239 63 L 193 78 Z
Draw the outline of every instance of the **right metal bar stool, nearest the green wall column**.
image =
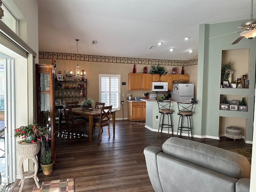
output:
M 178 130 L 177 130 L 177 137 L 178 137 L 178 132 L 180 130 L 180 136 L 181 136 L 181 132 L 182 131 L 187 131 L 188 132 L 188 140 L 189 140 L 189 131 L 191 131 L 191 138 L 193 138 L 192 135 L 192 126 L 191 126 L 191 118 L 190 116 L 192 116 L 192 108 L 194 106 L 194 103 L 178 103 L 178 115 L 181 118 L 181 122 L 180 122 L 180 118 L 179 118 L 179 122 L 178 122 Z M 182 122 L 183 122 L 183 117 L 187 118 L 187 127 L 182 126 Z

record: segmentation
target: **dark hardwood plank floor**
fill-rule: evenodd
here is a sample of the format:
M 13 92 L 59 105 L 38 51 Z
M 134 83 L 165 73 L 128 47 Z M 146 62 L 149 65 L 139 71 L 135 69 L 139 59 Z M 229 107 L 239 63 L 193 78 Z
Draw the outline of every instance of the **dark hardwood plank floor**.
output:
M 75 178 L 75 192 L 153 192 L 143 150 L 146 146 L 162 146 L 168 135 L 162 133 L 158 136 L 157 132 L 151 132 L 144 125 L 128 120 L 116 121 L 116 136 L 110 135 L 109 139 L 107 127 L 104 127 L 102 141 L 98 129 L 94 132 L 92 143 L 84 137 L 58 137 L 54 170 L 48 176 L 38 172 L 39 180 Z M 193 140 L 224 149 L 252 146 L 245 144 L 243 139 L 234 141 L 226 137 L 220 140 Z M 16 181 L 13 192 L 19 191 L 19 181 Z M 32 192 L 34 184 L 33 178 L 25 179 L 22 192 Z

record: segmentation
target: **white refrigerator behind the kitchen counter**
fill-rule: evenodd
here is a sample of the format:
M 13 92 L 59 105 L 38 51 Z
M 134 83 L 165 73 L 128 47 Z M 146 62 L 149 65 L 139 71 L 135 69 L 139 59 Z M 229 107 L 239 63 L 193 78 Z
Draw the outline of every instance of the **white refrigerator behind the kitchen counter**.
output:
M 188 101 L 194 98 L 193 83 L 172 84 L 171 99 L 174 101 Z

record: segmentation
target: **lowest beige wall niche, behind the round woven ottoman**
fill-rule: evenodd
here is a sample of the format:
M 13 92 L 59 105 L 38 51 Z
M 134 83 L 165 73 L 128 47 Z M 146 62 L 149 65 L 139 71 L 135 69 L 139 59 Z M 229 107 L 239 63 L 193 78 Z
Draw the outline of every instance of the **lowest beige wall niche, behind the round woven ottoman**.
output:
M 247 129 L 247 121 L 246 118 L 234 118 L 234 117 L 221 117 L 219 121 L 219 135 L 225 136 L 226 128 L 227 127 L 237 127 L 242 130 L 242 137 L 246 134 Z

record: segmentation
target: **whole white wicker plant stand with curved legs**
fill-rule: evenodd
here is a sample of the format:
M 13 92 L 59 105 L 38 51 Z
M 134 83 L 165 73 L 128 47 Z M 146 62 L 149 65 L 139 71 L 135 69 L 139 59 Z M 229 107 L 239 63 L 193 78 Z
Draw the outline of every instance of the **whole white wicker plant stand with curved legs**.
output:
M 17 153 L 20 155 L 20 163 L 19 163 L 19 172 L 21 176 L 21 180 L 19 183 L 20 190 L 22 191 L 24 180 L 27 178 L 34 178 L 36 186 L 40 188 L 40 185 L 38 183 L 39 179 L 37 177 L 38 172 L 38 160 L 36 158 L 36 155 L 38 154 L 40 150 L 40 141 L 37 141 L 35 143 L 24 143 L 24 142 L 18 142 L 16 146 Z M 32 159 L 34 161 L 34 170 L 29 170 L 24 172 L 23 169 L 23 162 L 25 159 Z

